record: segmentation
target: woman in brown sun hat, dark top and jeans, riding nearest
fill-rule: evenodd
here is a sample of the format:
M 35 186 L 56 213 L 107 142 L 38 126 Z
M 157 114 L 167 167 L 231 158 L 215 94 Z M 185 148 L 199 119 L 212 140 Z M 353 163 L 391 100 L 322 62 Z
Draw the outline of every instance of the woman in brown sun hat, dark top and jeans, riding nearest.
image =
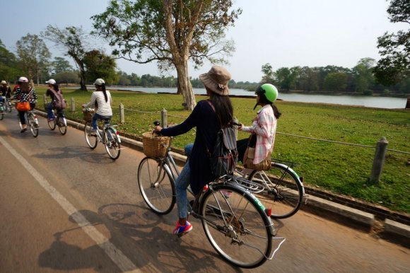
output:
M 209 147 L 213 147 L 216 143 L 216 134 L 221 124 L 227 126 L 233 120 L 233 107 L 228 97 L 230 78 L 228 70 L 221 66 L 213 66 L 208 73 L 199 76 L 204 83 L 209 100 L 199 101 L 191 115 L 181 124 L 169 128 L 155 127 L 155 131 L 163 136 L 185 134 L 197 127 L 194 145 L 185 146 L 187 163 L 175 181 L 178 220 L 172 231 L 173 234 L 181 236 L 192 230 L 192 224 L 187 221 L 188 185 L 197 196 L 205 185 L 216 178 L 211 174 L 208 151 Z

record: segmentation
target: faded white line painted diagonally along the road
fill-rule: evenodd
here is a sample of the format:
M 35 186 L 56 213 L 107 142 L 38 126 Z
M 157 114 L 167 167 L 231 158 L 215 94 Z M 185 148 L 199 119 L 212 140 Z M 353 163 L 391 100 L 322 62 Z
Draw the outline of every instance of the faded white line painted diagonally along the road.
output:
M 47 180 L 39 173 L 35 168 L 28 163 L 28 161 L 21 156 L 12 146 L 10 146 L 6 140 L 0 136 L 1 144 L 10 151 L 13 156 L 20 161 L 21 165 L 28 170 L 28 172 L 33 175 L 33 178 L 48 192 L 54 200 L 59 203 L 62 209 L 66 211 L 69 216 L 73 216 L 74 220 L 78 223 L 83 231 L 97 243 L 97 245 L 105 251 L 105 253 L 110 257 L 112 262 L 115 262 L 115 265 L 119 267 L 123 272 L 142 272 L 141 269 L 138 269 L 127 256 L 122 253 L 121 250 L 115 247 L 108 238 L 106 238 L 100 231 L 97 230 L 90 222 L 87 221 L 78 209 L 76 209 L 61 193 L 59 193 L 55 187 L 49 184 Z M 152 267 L 152 265 L 151 265 Z

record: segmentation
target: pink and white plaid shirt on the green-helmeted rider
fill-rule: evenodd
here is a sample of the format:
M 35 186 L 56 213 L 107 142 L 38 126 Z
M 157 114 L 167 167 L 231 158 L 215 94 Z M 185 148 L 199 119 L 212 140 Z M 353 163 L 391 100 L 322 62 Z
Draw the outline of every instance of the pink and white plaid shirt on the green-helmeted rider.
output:
M 253 163 L 263 161 L 274 149 L 277 120 L 271 105 L 265 105 L 257 112 L 257 120 L 250 127 L 242 127 L 243 132 L 257 134 Z

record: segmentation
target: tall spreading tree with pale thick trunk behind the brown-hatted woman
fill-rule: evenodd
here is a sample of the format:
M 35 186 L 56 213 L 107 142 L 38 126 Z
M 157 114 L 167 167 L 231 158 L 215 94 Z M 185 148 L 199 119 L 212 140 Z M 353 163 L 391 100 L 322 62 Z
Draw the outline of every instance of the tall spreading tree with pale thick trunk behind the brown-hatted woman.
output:
M 231 0 L 111 0 L 107 10 L 92 17 L 95 33 L 105 37 L 123 59 L 139 64 L 156 61 L 160 71 L 177 70 L 178 91 L 187 108 L 196 105 L 188 61 L 196 68 L 208 59 L 225 62 L 233 42 L 223 40 L 240 8 Z

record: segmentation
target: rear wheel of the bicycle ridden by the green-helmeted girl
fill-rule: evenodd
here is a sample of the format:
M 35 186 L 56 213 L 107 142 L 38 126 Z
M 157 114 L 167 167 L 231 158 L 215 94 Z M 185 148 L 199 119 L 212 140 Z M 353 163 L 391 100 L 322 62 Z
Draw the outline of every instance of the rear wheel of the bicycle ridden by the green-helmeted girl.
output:
M 303 202 L 303 185 L 298 175 L 288 166 L 279 163 L 271 164 L 269 177 L 261 173 L 253 170 L 248 179 L 262 184 L 264 184 L 262 180 L 269 183 L 271 190 L 265 187 L 264 193 L 265 196 L 267 195 L 265 199 L 274 202 L 271 218 L 284 219 L 298 212 Z M 265 207 L 269 206 L 266 204 Z

